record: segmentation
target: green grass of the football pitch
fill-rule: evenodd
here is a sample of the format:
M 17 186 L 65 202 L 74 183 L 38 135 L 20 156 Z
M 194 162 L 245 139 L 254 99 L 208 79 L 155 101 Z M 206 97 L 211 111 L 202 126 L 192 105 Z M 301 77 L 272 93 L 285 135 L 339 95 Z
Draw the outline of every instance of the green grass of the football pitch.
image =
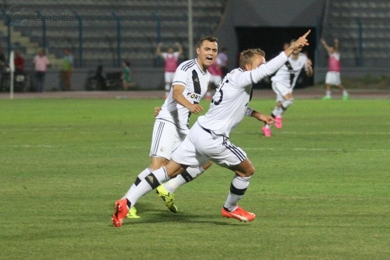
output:
M 114 228 L 161 103 L 0 100 L 0 259 L 390 258 L 388 100 L 296 100 L 269 139 L 244 118 L 231 140 L 256 167 L 254 222 L 221 218 L 233 173 L 213 165 L 176 191 L 178 214 L 152 192 Z

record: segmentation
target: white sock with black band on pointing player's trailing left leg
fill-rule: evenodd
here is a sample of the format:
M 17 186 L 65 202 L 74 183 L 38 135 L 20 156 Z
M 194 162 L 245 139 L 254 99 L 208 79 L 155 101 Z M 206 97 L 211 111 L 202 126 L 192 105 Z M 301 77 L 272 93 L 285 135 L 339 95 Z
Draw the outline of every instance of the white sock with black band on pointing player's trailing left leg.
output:
M 141 182 L 132 190 L 132 192 L 127 194 L 126 199 L 131 203 L 131 206 L 134 206 L 140 197 L 168 180 L 169 176 L 167 174 L 167 170 L 165 167 L 161 167 L 148 174 L 143 180 L 141 180 Z

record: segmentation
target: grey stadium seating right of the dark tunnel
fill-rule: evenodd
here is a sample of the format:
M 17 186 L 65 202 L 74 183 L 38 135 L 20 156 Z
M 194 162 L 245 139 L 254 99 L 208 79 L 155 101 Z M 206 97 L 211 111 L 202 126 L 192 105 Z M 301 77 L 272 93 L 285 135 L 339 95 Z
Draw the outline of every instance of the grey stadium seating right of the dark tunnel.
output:
M 323 37 L 340 39 L 343 66 L 358 65 L 359 25 L 362 24 L 363 66 L 389 66 L 390 1 L 330 0 Z

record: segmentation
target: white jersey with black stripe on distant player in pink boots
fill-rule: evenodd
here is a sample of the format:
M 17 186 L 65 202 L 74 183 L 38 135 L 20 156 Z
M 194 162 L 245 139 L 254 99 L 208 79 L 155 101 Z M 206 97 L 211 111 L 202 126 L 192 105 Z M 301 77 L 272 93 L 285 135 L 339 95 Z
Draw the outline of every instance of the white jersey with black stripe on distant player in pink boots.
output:
M 271 80 L 283 84 L 288 88 L 293 88 L 302 68 L 305 67 L 306 70 L 307 60 L 308 57 L 303 53 L 299 53 L 298 58 L 295 60 L 290 56 L 286 63 L 271 78 Z

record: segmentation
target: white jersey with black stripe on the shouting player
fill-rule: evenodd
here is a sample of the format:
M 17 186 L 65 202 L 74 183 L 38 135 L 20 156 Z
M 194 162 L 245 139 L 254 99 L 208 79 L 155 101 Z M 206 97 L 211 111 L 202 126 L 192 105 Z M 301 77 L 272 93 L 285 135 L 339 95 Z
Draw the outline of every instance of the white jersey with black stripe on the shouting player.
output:
M 200 99 L 207 92 L 210 81 L 210 73 L 203 71 L 197 63 L 196 58 L 181 63 L 175 72 L 173 85 L 185 87 L 183 95 L 193 104 L 199 103 Z M 179 130 L 188 130 L 188 121 L 191 112 L 173 99 L 173 88 L 165 99 L 161 111 L 156 116 L 156 120 L 168 121 L 176 125 Z

